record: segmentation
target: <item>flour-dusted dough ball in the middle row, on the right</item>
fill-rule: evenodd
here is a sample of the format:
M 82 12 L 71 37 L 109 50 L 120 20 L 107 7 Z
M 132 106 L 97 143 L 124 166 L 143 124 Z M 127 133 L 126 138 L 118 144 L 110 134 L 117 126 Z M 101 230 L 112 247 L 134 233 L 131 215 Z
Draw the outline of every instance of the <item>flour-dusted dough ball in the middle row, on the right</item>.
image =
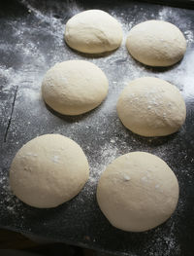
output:
M 174 133 L 186 117 L 186 106 L 178 89 L 154 77 L 132 81 L 120 93 L 116 109 L 122 124 L 142 136 Z

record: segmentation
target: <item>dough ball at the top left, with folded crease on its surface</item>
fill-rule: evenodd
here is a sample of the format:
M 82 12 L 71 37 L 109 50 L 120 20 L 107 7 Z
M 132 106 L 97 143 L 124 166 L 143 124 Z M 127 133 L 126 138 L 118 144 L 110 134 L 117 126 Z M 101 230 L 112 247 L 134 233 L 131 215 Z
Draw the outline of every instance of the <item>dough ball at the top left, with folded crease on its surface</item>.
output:
M 88 10 L 68 20 L 65 41 L 81 53 L 101 54 L 120 46 L 122 29 L 119 22 L 108 13 Z

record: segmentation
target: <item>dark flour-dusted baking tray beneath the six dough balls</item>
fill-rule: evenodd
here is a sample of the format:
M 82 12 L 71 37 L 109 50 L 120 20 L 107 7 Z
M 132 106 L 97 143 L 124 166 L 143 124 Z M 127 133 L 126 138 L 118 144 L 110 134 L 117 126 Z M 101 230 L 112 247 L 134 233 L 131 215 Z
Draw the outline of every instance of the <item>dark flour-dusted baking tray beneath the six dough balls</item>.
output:
M 128 55 L 124 44 L 111 55 L 81 55 L 65 45 L 63 33 L 67 19 L 87 9 L 102 9 L 118 18 L 125 35 L 146 19 L 173 22 L 187 39 L 187 52 L 182 61 L 169 68 L 142 65 Z M 0 226 L 117 255 L 194 255 L 194 11 L 138 1 L 7 1 L 1 2 L 0 31 Z M 109 78 L 110 91 L 95 110 L 66 117 L 44 104 L 40 88 L 50 66 L 74 58 L 101 67 Z M 141 76 L 166 79 L 182 91 L 187 118 L 177 133 L 144 138 L 119 122 L 117 96 L 130 80 Z M 61 133 L 76 140 L 91 166 L 90 179 L 78 197 L 54 209 L 27 206 L 16 200 L 8 186 L 9 166 L 16 151 L 45 133 Z M 165 224 L 142 234 L 114 229 L 95 197 L 105 166 L 117 156 L 136 150 L 166 161 L 180 187 L 175 214 Z

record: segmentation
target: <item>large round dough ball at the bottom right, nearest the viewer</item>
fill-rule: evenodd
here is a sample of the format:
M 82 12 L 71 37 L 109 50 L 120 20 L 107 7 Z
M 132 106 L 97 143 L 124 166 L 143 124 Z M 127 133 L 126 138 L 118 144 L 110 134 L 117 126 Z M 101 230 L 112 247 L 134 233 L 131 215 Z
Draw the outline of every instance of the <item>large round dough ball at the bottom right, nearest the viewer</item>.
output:
M 97 201 L 111 224 L 144 232 L 165 222 L 178 203 L 178 180 L 160 158 L 133 152 L 108 165 L 100 177 Z

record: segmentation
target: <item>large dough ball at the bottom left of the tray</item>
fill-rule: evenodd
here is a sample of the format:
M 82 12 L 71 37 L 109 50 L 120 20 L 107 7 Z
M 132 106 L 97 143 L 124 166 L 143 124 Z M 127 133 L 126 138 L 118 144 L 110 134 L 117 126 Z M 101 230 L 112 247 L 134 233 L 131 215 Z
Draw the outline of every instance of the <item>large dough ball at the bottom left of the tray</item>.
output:
M 18 150 L 10 169 L 10 185 L 19 200 L 50 208 L 79 194 L 88 175 L 87 159 L 74 140 L 46 134 Z

